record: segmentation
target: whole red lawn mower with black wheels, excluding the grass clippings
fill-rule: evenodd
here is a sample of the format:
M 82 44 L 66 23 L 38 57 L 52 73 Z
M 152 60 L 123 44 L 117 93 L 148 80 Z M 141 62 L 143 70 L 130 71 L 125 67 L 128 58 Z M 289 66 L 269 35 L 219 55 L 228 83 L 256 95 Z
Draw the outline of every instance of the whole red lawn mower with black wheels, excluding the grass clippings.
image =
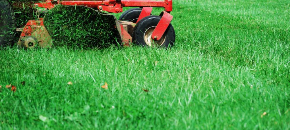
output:
M 6 0 L 0 0 L 1 3 Z M 116 28 L 119 31 L 125 46 L 135 42 L 148 47 L 171 47 L 175 42 L 175 31 L 171 25 L 173 16 L 172 0 L 44 0 L 42 3 L 34 3 L 37 10 L 50 10 L 56 5 L 86 6 L 98 11 L 109 13 L 121 13 L 123 7 L 139 7 L 127 10 L 119 20 L 116 20 Z M 10 44 L 13 31 L 13 10 L 6 1 L 0 4 L 0 45 Z M 153 7 L 164 8 L 159 16 L 151 15 Z M 11 15 L 11 17 L 7 17 Z M 4 17 L 6 16 L 6 17 Z M 6 18 L 6 19 L 4 19 Z M 11 18 L 11 19 L 10 19 Z M 0 30 L 0 31 L 1 31 Z M 52 45 L 52 38 L 44 26 L 44 19 L 28 21 L 23 28 L 18 28 L 21 36 L 19 47 L 34 48 L 36 46 L 48 48 Z

